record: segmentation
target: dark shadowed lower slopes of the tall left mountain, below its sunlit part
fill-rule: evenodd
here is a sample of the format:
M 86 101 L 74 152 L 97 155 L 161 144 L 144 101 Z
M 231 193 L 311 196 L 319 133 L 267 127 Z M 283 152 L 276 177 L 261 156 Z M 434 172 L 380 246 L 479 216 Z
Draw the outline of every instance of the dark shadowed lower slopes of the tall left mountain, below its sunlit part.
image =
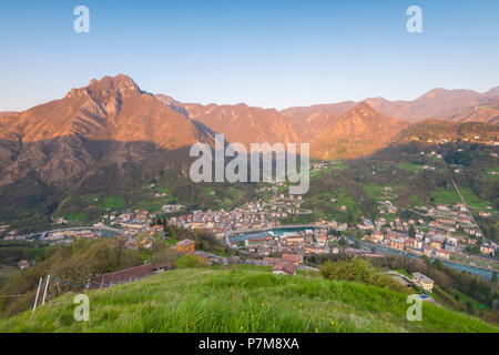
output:
M 29 143 L 0 140 L 0 221 L 28 231 L 45 227 L 53 213 L 93 221 L 98 196 L 118 195 L 128 205 L 154 200 L 149 186 L 156 180 L 169 181 L 174 199 L 200 203 L 192 196 L 201 192 L 189 179 L 187 148 L 67 135 Z

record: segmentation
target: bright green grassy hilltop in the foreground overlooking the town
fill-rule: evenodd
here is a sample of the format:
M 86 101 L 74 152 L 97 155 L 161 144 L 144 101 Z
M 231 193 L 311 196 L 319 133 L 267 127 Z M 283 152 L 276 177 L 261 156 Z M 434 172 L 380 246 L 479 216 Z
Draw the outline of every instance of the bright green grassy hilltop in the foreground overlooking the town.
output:
M 88 323 L 73 320 L 67 294 L 0 321 L 0 332 L 499 332 L 429 303 L 409 322 L 405 294 L 267 267 L 180 268 L 88 295 Z

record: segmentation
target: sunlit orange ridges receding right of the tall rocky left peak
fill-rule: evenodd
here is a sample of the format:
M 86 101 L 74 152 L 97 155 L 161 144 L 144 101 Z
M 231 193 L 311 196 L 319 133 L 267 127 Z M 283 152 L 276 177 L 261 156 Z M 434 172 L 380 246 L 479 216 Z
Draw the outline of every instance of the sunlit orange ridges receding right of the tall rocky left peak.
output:
M 374 98 L 282 111 L 252 108 L 244 103 L 182 103 L 166 95 L 156 97 L 214 132 L 224 133 L 228 142 L 309 142 L 313 154 L 320 158 L 369 154 L 387 144 L 405 126 L 426 119 L 499 122 L 499 87 L 486 93 L 435 89 L 414 101 Z M 363 109 L 366 114 L 359 114 Z M 338 142 L 339 139 L 343 143 Z

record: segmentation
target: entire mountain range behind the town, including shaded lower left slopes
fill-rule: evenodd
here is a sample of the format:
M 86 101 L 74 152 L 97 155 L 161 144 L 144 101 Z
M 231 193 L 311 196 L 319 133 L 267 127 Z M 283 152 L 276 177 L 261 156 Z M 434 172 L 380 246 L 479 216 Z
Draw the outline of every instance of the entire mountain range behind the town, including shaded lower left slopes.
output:
M 60 100 L 0 113 L 0 222 L 35 230 L 61 213 L 90 221 L 99 212 L 96 197 L 141 203 L 155 183 L 171 192 L 166 201 L 212 205 L 204 186 L 189 180 L 189 149 L 198 141 L 213 145 L 216 133 L 244 144 L 310 143 L 313 158 L 327 160 L 442 136 L 497 139 L 499 125 L 489 122 L 498 121 L 498 91 L 434 90 L 413 102 L 368 99 L 276 111 L 183 103 L 122 74 L 92 80 Z M 427 115 L 438 120 L 421 121 Z M 223 195 L 230 187 L 217 189 Z

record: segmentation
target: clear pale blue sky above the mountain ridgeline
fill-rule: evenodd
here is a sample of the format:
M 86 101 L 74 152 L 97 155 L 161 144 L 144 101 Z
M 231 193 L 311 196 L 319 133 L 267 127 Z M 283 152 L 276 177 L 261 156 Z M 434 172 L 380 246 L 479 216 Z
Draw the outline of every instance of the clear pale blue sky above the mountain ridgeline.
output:
M 75 33 L 73 9 L 90 9 Z M 422 33 L 406 10 L 422 9 Z M 2 1 L 0 111 L 125 73 L 184 102 L 283 109 L 499 85 L 499 1 Z

